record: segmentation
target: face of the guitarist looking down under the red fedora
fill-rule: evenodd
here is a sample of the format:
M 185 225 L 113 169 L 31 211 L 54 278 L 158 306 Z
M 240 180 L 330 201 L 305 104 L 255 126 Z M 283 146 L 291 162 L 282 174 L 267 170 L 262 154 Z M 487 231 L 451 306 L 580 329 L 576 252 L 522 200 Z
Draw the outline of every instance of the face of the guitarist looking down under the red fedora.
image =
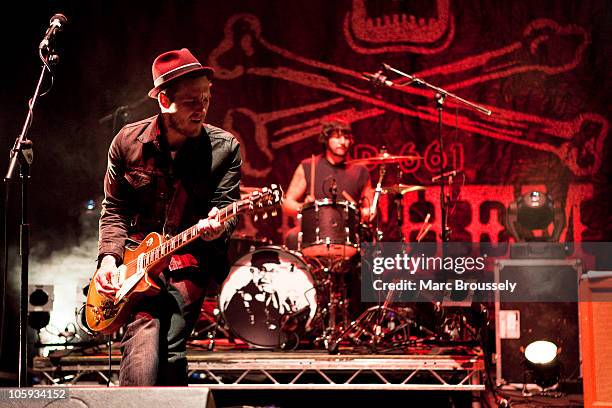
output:
M 187 137 L 200 134 L 210 104 L 210 87 L 211 83 L 205 76 L 187 78 L 160 95 L 162 112 L 167 114 L 168 126 L 172 130 Z

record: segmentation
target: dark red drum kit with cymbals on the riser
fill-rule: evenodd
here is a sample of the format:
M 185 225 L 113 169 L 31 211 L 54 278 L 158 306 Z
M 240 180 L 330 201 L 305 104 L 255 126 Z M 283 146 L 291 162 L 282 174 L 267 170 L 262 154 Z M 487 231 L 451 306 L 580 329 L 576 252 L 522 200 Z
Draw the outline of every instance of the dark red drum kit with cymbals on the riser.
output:
M 348 163 L 379 167 L 372 204 L 376 208 L 382 194 L 399 198 L 401 205 L 404 194 L 425 189 L 382 185 L 387 165 L 420 159 L 383 152 Z M 362 224 L 360 218 L 354 202 L 316 200 L 299 212 L 297 251 L 238 237 L 234 247 L 242 245 L 243 255 L 234 257 L 218 303 L 219 315 L 233 336 L 254 348 L 290 350 L 308 344 L 330 353 L 346 343 L 370 352 L 406 345 L 415 331 L 433 336 L 432 330 L 413 320 L 410 309 L 393 307 L 391 297 L 351 320 L 351 310 L 357 306 L 351 304 L 351 298 L 359 298 L 358 293 L 349 296 L 349 292 L 358 288 L 350 283 L 359 281 L 360 243 L 383 238 L 377 225 Z

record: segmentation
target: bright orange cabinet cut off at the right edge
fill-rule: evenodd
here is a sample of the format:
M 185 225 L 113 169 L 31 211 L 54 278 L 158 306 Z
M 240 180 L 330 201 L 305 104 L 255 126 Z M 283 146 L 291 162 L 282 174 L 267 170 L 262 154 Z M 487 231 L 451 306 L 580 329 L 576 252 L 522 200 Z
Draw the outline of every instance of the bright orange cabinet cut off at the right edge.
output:
M 580 281 L 580 351 L 585 407 L 612 407 L 612 271 Z

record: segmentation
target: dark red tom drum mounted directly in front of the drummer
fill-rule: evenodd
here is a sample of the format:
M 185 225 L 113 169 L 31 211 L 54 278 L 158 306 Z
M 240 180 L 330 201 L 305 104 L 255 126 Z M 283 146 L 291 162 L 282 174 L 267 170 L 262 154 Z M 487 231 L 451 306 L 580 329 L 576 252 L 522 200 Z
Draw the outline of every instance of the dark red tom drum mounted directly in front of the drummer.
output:
M 298 250 L 306 256 L 351 258 L 359 251 L 359 211 L 348 201 L 328 199 L 302 207 Z

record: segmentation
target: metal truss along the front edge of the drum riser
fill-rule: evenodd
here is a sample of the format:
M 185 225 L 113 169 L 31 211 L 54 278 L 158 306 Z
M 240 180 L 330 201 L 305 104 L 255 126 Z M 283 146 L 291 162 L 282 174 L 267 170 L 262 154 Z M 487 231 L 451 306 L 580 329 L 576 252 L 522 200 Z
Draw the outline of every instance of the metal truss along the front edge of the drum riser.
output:
M 111 378 L 119 370 L 113 357 Z M 481 356 L 329 355 L 321 352 L 232 351 L 189 355 L 190 384 L 210 389 L 484 391 Z M 108 381 L 108 359 L 37 358 L 47 385 Z

